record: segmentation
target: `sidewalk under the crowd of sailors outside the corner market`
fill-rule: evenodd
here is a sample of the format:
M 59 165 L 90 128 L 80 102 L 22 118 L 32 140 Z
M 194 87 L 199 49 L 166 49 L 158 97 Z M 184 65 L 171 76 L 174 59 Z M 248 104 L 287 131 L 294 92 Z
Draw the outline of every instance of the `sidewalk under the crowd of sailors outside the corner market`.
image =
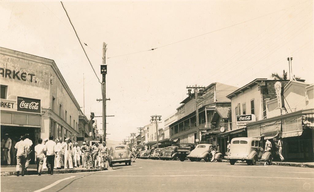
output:
M 37 175 L 36 165 L 30 165 L 28 167 L 28 175 Z M 60 174 L 60 173 L 79 173 L 79 172 L 95 172 L 95 171 L 102 171 L 104 169 L 86 169 L 83 167 L 75 167 L 74 169 L 54 169 L 53 174 Z M 15 175 L 15 166 L 1 166 L 1 177 L 2 176 L 11 176 Z M 48 174 L 48 170 L 42 170 L 41 174 Z

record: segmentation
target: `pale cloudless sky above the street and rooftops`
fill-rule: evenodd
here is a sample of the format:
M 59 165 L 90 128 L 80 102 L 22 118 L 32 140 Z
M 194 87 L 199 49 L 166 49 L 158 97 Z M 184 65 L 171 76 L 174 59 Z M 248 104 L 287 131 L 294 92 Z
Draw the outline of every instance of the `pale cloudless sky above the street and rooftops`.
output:
M 289 71 L 288 57 L 293 74 L 314 82 L 311 0 L 63 3 L 100 79 L 107 43 L 111 140 L 175 114 L 186 86 L 270 79 Z M 82 107 L 84 74 L 85 114 L 101 116 L 101 85 L 60 2 L 1 2 L 0 18 L 1 47 L 54 60 Z

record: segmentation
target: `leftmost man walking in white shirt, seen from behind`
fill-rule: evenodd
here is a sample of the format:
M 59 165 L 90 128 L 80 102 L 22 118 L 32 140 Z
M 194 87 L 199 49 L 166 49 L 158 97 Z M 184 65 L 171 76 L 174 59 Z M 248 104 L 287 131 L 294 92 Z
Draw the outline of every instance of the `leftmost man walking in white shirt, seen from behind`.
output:
M 21 136 L 20 141 L 15 144 L 14 148 L 16 151 L 16 176 L 19 176 L 20 169 L 22 176 L 24 176 L 27 152 L 24 143 L 24 136 Z

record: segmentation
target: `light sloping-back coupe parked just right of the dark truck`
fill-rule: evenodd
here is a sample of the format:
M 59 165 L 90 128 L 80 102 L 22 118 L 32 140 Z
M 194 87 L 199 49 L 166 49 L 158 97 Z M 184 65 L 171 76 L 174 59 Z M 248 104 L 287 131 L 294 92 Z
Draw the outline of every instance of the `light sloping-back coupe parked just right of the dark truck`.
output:
M 195 149 L 187 155 L 187 158 L 190 159 L 190 161 L 201 161 L 204 159 L 205 162 L 209 162 L 212 158 L 211 151 L 213 148 L 214 146 L 211 144 L 198 144 Z M 221 160 L 219 159 L 219 161 Z

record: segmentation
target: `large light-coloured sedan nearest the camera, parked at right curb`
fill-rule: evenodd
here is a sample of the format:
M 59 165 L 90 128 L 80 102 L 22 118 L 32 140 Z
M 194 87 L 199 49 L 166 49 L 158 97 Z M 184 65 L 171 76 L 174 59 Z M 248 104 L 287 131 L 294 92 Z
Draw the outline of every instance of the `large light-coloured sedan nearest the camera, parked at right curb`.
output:
M 250 137 L 233 138 L 230 143 L 230 152 L 226 159 L 234 165 L 236 161 L 246 161 L 248 165 L 256 165 L 256 162 L 267 162 L 268 165 L 273 163 L 273 156 L 271 152 L 264 152 L 260 146 L 259 140 Z

